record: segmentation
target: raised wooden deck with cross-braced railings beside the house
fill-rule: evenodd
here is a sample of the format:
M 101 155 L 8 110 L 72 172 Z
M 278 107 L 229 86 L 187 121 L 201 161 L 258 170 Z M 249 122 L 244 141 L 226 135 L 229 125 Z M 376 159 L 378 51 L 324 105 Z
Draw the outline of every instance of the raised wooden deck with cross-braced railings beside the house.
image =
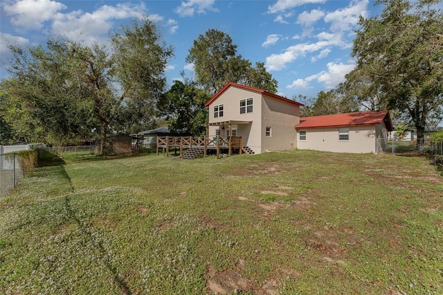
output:
M 246 148 L 243 147 L 242 136 L 230 136 L 229 138 L 221 136 L 204 136 L 204 137 L 158 136 L 157 137 L 157 155 L 159 155 L 159 149 L 162 149 L 163 154 L 166 154 L 166 157 L 168 157 L 170 147 L 179 148 L 180 156 L 183 155 L 183 151 L 191 149 L 199 150 L 202 154 L 204 154 L 204 157 L 208 155 L 208 151 L 215 151 L 217 154 L 217 159 L 221 157 L 222 154 L 228 154 L 228 156 L 230 156 L 236 150 L 238 150 L 239 154 L 243 153 L 248 154 Z

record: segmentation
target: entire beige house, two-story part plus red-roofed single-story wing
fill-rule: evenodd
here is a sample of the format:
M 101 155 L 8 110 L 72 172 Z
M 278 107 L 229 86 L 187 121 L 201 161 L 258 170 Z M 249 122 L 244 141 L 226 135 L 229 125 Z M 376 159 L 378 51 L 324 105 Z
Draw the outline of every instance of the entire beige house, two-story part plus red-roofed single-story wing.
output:
M 392 131 L 389 111 L 300 118 L 301 103 L 274 93 L 228 83 L 206 102 L 210 138 L 242 136 L 255 154 L 273 150 L 383 152 Z

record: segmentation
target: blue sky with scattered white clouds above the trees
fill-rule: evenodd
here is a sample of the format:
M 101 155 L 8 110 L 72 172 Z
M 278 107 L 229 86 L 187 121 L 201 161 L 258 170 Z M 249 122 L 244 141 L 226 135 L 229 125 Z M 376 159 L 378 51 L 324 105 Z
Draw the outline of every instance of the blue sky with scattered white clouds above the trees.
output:
M 166 77 L 194 76 L 186 62 L 192 43 L 211 29 L 227 33 L 237 54 L 264 62 L 278 94 L 315 98 L 354 69 L 350 53 L 359 16 L 379 15 L 373 0 L 1 0 L 0 78 L 7 78 L 8 44 L 45 44 L 51 35 L 105 43 L 109 31 L 147 17 L 174 47 Z

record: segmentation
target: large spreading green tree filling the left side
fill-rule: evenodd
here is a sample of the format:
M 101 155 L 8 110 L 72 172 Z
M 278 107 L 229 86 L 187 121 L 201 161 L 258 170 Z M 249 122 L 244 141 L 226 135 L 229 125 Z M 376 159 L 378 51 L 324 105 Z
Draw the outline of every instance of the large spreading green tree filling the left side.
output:
M 17 138 L 65 145 L 97 132 L 105 153 L 109 129 L 131 132 L 153 124 L 172 48 L 147 19 L 114 32 L 108 44 L 51 38 L 46 48 L 10 47 L 11 78 L 1 85 L 0 115 Z

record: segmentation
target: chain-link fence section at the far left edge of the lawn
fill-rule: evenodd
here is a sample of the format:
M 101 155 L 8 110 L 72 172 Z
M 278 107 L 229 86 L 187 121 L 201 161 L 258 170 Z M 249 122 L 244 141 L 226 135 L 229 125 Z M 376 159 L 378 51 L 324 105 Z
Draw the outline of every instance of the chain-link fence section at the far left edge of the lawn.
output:
M 23 175 L 24 172 L 20 167 L 17 155 L 0 154 L 0 197 L 14 188 Z

